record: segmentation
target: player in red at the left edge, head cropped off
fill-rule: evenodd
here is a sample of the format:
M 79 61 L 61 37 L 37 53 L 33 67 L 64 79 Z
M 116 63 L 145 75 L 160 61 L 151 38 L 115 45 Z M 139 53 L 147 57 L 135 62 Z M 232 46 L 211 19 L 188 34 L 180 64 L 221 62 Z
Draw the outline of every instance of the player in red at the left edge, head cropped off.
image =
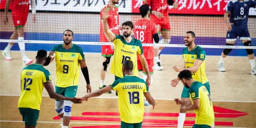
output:
M 8 23 L 7 12 L 9 10 L 10 4 L 11 4 L 11 0 L 7 0 L 5 5 L 5 12 L 4 12 L 5 25 L 7 25 Z M 35 10 L 35 3 L 32 0 L 31 0 L 31 8 L 32 8 L 32 20 L 33 20 L 33 23 L 35 23 L 36 10 Z M 29 0 L 13 0 L 12 1 L 12 19 L 13 19 L 15 30 L 11 35 L 10 39 L 24 40 L 24 26 L 27 22 L 28 14 L 29 14 Z M 13 45 L 14 45 L 14 42 L 9 42 L 8 46 L 2 52 L 2 55 L 5 57 L 6 60 L 12 59 L 10 56 L 10 50 Z M 25 65 L 29 65 L 30 63 L 32 63 L 33 60 L 29 59 L 25 54 L 25 44 L 19 42 L 18 46 L 19 46 L 20 52 L 22 53 L 23 63 Z

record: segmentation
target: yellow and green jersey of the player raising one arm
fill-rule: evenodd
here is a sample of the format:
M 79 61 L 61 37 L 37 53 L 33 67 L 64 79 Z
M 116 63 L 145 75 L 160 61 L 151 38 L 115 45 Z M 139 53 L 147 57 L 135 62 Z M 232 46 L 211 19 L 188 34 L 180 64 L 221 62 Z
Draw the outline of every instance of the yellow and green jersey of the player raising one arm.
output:
M 133 38 L 131 42 L 126 42 L 123 36 L 116 35 L 113 43 L 115 51 L 110 72 L 122 78 L 122 63 L 124 60 L 131 60 L 133 61 L 133 74 L 138 76 L 137 53 L 143 54 L 141 41 Z

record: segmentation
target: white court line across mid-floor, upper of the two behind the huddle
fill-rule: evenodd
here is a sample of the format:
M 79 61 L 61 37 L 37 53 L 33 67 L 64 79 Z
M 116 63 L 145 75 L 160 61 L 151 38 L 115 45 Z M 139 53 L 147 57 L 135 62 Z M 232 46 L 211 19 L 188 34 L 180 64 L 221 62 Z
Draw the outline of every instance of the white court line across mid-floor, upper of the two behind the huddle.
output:
M 2 95 L 0 94 L 0 96 L 19 96 L 19 95 Z M 42 97 L 49 97 L 48 95 L 42 96 Z M 79 96 L 77 96 L 79 97 Z M 92 97 L 92 98 L 102 98 L 102 99 L 117 99 L 118 97 Z M 174 100 L 174 99 L 157 99 L 156 100 Z M 211 101 L 215 101 L 215 102 L 248 102 L 248 103 L 256 103 L 256 101 L 229 101 L 229 100 L 211 100 Z

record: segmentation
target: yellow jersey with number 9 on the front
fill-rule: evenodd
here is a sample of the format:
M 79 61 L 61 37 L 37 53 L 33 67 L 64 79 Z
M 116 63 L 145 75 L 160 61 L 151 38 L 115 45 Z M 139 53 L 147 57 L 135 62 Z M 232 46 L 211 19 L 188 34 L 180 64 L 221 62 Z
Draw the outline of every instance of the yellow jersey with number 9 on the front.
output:
M 56 61 L 56 86 L 66 88 L 78 86 L 80 73 L 79 60 L 84 58 L 82 48 L 72 44 L 70 49 L 65 49 L 63 44 L 54 46 Z

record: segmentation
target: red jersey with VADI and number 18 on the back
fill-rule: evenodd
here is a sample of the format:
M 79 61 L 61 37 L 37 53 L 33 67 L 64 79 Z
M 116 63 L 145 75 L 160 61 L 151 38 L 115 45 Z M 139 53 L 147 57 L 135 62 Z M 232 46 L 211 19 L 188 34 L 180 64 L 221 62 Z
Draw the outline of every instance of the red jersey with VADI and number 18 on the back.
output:
M 134 23 L 134 37 L 142 43 L 153 44 L 153 35 L 157 33 L 156 24 L 151 20 L 140 19 Z M 142 47 L 146 59 L 154 59 L 154 47 Z

